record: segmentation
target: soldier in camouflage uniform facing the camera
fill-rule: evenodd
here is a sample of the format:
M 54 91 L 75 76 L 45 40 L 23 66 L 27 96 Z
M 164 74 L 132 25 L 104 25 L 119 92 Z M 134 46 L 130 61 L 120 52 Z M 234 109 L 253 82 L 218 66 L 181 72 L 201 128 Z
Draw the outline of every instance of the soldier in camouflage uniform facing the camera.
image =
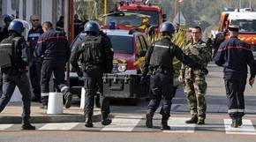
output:
M 211 51 L 207 48 L 207 44 L 201 41 L 200 26 L 192 28 L 192 42 L 185 47 L 184 53 L 207 67 L 207 63 L 211 60 Z M 193 70 L 189 66 L 182 65 L 179 81 L 184 82 L 184 93 L 189 101 L 192 115 L 192 118 L 185 123 L 205 123 L 207 110 L 205 76 L 206 73 L 203 71 Z

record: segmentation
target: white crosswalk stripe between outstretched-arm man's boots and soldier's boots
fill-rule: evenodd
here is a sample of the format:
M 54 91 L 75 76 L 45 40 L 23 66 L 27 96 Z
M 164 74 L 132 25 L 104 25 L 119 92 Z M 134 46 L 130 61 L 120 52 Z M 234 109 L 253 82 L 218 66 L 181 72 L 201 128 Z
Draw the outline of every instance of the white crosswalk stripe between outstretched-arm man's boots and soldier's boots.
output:
M 182 132 L 182 133 L 193 133 L 195 132 L 195 123 L 184 123 L 188 120 L 186 117 L 170 117 L 168 124 L 170 126 L 170 131 L 163 132 Z

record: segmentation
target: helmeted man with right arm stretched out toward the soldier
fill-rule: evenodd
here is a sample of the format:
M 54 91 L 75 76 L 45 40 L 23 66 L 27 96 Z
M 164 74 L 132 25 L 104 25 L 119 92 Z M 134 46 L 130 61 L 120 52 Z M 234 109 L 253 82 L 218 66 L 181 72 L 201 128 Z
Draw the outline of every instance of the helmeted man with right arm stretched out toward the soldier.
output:
M 169 22 L 162 23 L 161 39 L 155 41 L 153 46 L 147 50 L 145 56 L 146 63 L 143 66 L 141 81 L 145 82 L 147 78 L 147 72 L 150 76 L 150 102 L 148 104 L 146 114 L 146 126 L 147 128 L 153 127 L 153 116 L 156 108 L 158 108 L 162 101 L 162 130 L 169 130 L 168 119 L 169 111 L 171 107 L 171 100 L 173 93 L 173 65 L 172 60 L 176 56 L 178 60 L 182 61 L 193 68 L 202 68 L 201 64 L 194 62 L 190 57 L 185 56 L 183 51 L 177 47 L 177 45 L 171 42 L 172 34 L 175 33 L 174 26 Z

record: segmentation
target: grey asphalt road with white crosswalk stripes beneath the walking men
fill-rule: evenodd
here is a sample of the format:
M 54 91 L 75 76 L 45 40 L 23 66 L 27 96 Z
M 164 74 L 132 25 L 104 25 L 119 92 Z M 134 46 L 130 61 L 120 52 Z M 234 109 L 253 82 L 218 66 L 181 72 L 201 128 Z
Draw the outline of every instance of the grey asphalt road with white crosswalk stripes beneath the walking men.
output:
M 208 66 L 207 76 L 207 120 L 205 125 L 185 124 L 190 117 L 187 101 L 182 89 L 173 100 L 170 131 L 161 131 L 159 109 L 154 115 L 154 128 L 145 127 L 146 100 L 137 106 L 126 106 L 124 101 L 111 105 L 113 123 L 102 126 L 94 122 L 94 128 L 86 128 L 84 123 L 35 123 L 36 131 L 20 131 L 20 124 L 0 124 L 0 142 L 255 142 L 256 139 L 256 96 L 255 87 L 246 86 L 244 125 L 230 128 L 230 118 L 226 114 L 226 97 L 222 80 L 222 68 L 214 64 Z

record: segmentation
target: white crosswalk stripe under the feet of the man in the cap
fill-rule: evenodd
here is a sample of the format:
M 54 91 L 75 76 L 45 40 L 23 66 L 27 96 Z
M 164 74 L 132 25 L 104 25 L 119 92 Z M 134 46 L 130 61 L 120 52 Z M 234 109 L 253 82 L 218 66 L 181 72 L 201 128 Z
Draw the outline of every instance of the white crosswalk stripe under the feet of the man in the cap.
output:
M 256 131 L 253 127 L 252 121 L 245 119 L 243 120 L 243 125 L 238 128 L 232 128 L 230 124 L 231 119 L 224 119 L 226 134 L 245 134 L 245 135 L 256 135 Z

